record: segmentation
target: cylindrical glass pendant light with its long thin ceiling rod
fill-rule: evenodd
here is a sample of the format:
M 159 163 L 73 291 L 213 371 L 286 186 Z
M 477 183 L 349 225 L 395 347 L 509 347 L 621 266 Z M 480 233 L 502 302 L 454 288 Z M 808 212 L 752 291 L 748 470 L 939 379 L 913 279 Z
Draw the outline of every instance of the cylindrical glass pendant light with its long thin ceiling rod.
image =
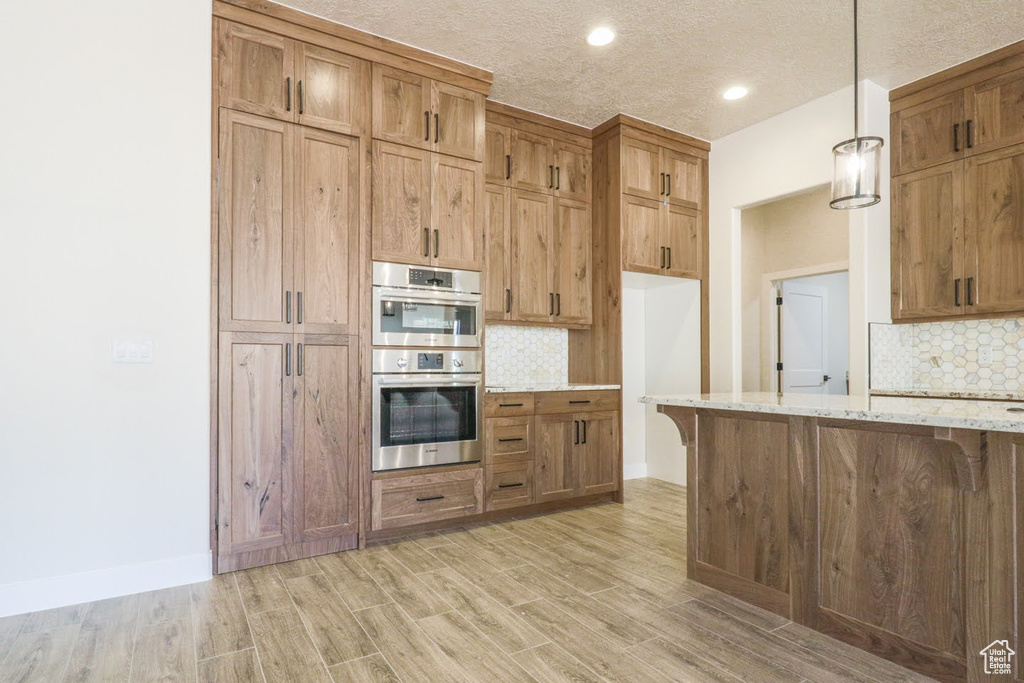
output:
M 861 137 L 859 134 L 857 56 L 857 0 L 853 0 L 853 139 L 833 147 L 833 199 L 829 206 L 834 209 L 862 209 L 882 200 L 880 183 L 885 140 L 876 136 Z

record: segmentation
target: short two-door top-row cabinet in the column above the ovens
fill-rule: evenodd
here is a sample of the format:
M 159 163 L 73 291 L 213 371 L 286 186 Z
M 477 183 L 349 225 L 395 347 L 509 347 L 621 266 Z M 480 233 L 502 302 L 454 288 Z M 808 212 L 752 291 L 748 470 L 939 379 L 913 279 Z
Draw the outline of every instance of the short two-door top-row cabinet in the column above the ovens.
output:
M 483 161 L 484 97 L 383 65 L 373 68 L 373 136 Z

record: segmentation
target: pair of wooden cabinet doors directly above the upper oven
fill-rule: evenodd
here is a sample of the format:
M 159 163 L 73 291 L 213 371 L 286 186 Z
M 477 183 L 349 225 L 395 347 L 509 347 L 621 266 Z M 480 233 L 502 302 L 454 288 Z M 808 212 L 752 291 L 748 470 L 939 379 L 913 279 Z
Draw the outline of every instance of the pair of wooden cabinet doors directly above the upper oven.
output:
M 373 148 L 374 260 L 480 270 L 480 164 L 380 140 Z

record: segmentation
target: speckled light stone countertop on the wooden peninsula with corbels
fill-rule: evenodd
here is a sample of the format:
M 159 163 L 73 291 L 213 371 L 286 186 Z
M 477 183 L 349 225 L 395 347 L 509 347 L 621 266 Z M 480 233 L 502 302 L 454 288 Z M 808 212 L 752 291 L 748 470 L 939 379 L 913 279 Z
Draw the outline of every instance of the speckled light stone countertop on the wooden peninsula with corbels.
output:
M 741 413 L 772 413 L 902 425 L 1024 433 L 1024 402 L 894 396 L 710 393 L 642 396 L 642 403 L 684 405 Z

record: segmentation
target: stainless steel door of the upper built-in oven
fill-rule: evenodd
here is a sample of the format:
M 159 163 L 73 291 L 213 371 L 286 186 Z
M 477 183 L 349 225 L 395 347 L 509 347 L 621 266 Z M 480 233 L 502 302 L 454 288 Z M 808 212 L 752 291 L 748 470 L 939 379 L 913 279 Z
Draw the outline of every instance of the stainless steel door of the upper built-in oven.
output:
M 480 346 L 478 294 L 373 289 L 375 346 Z

